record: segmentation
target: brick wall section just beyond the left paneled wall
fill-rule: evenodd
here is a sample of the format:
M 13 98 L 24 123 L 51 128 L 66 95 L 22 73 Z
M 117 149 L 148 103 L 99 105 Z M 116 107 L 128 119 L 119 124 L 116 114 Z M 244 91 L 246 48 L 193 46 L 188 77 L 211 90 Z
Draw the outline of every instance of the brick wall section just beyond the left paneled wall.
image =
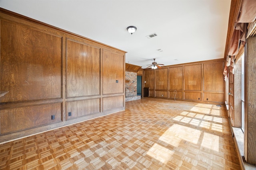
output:
M 125 72 L 125 96 L 137 96 L 137 73 Z

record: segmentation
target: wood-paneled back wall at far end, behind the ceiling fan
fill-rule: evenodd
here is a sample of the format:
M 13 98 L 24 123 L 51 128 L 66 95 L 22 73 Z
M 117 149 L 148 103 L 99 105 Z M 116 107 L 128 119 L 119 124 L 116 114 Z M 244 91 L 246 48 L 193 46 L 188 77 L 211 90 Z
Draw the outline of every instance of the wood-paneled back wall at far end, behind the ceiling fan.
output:
M 144 87 L 150 97 L 191 102 L 224 104 L 224 60 L 144 69 Z

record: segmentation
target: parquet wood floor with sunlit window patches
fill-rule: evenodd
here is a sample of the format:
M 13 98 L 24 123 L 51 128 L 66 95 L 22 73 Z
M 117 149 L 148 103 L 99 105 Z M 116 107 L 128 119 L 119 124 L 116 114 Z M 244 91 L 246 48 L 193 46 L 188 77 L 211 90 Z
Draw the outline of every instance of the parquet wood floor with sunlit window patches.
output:
M 225 107 L 142 98 L 0 145 L 0 169 L 240 170 Z

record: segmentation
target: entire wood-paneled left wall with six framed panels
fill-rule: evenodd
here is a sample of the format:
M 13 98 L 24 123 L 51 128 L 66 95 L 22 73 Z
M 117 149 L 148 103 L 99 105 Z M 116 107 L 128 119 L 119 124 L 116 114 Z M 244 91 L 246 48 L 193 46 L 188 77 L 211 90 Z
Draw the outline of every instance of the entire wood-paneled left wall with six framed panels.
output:
M 0 143 L 124 110 L 125 51 L 2 8 L 0 35 Z

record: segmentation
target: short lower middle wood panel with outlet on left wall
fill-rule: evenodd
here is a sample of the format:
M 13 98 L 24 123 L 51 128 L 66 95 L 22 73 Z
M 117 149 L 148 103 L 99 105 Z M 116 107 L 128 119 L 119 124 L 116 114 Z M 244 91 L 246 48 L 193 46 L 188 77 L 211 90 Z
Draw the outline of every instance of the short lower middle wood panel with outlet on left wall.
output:
M 68 116 L 71 112 L 71 116 Z M 67 102 L 67 119 L 81 117 L 100 112 L 100 99 L 81 100 L 75 102 Z

